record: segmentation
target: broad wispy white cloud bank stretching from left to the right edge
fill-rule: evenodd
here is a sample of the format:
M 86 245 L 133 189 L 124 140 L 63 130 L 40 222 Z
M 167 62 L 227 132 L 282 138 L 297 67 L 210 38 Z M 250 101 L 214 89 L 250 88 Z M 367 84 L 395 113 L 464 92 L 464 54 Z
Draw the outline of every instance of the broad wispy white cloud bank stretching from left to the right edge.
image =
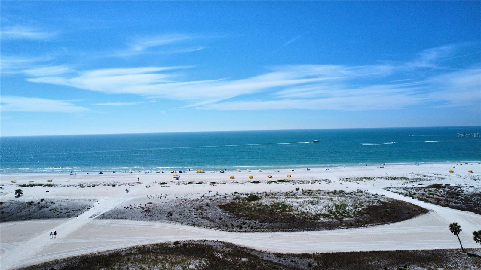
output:
M 460 71 L 439 64 L 443 59 L 453 58 L 455 51 L 454 46 L 428 49 L 413 61 L 395 64 L 269 66 L 265 73 L 243 79 L 188 80 L 186 71 L 177 73 L 188 67 L 180 66 L 84 70 L 55 76 L 39 73 L 27 80 L 108 94 L 184 100 L 187 105 L 179 105 L 179 108 L 205 110 L 388 110 L 419 104 L 472 106 L 481 102 L 478 101 L 481 70 L 472 66 Z M 425 72 L 433 70 L 437 71 Z M 459 92 L 462 94 L 456 94 Z M 115 103 L 110 106 L 121 106 Z

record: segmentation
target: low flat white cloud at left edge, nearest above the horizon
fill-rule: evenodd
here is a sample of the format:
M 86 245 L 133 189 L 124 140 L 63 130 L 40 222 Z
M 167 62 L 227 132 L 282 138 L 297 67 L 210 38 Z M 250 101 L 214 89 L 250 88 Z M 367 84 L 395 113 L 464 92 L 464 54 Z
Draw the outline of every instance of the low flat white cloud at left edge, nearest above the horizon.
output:
M 86 112 L 89 109 L 74 105 L 65 100 L 28 98 L 17 96 L 1 96 L 1 111 L 29 111 L 29 112 Z

